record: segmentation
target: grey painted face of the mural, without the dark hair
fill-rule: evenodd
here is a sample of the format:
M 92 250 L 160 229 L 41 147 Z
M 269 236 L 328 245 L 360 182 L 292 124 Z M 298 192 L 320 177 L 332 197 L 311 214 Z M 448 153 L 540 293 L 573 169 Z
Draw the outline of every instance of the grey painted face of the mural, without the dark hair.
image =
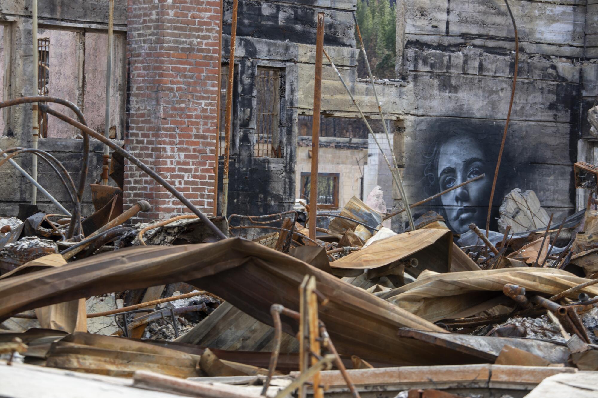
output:
M 447 222 L 459 234 L 466 232 L 472 222 L 480 228 L 486 226 L 492 182 L 486 170 L 487 159 L 478 145 L 471 137 L 454 137 L 444 143 L 438 153 L 437 177 L 441 191 L 486 173 L 482 179 L 441 196 Z

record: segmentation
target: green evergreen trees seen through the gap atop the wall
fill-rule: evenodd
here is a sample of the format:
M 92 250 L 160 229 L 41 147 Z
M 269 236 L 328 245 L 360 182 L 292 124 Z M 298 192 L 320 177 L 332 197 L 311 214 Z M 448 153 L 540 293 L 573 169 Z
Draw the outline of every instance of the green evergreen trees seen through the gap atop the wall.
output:
M 396 3 L 391 2 L 392 0 L 357 0 L 356 19 L 364 39 L 370 68 L 374 76 L 383 79 L 396 78 Z M 355 38 L 358 39 L 357 32 Z M 359 77 L 368 77 L 361 51 L 357 71 Z

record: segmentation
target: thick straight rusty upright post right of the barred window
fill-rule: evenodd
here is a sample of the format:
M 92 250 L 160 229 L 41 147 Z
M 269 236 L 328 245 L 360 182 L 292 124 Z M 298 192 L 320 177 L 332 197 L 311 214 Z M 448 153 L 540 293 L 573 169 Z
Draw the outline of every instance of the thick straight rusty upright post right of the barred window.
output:
M 313 78 L 312 175 L 309 180 L 309 237 L 316 238 L 318 218 L 318 153 L 320 149 L 320 100 L 322 96 L 322 53 L 324 52 L 324 13 L 318 13 L 316 70 Z

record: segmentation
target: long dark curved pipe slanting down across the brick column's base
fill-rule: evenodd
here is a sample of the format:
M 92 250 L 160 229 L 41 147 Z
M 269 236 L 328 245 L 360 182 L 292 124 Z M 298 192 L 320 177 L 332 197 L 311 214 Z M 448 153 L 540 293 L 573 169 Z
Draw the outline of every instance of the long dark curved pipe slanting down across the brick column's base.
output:
M 0 105 L 2 105 L 2 103 L 0 103 Z M 53 115 L 54 117 L 57 117 L 60 120 L 65 121 L 66 123 L 74 125 L 79 130 L 83 131 L 84 134 L 89 134 L 91 137 L 94 137 L 95 139 L 99 140 L 100 142 L 106 143 L 106 145 L 108 145 L 110 148 L 112 148 L 112 150 L 114 152 L 117 152 L 118 154 L 127 158 L 127 160 L 129 160 L 131 163 L 135 164 L 135 166 L 139 167 L 139 169 L 141 169 L 143 172 L 147 173 L 150 177 L 152 177 L 152 179 L 154 179 L 161 186 L 166 188 L 166 190 L 169 191 L 175 198 L 177 198 L 179 201 L 181 201 L 182 204 L 187 206 L 188 209 L 191 210 L 191 212 L 195 213 L 199 217 L 199 219 L 202 220 L 202 222 L 204 224 L 206 224 L 208 226 L 208 228 L 210 228 L 219 239 L 227 238 L 226 235 L 224 235 L 224 233 L 222 231 L 220 231 L 220 229 L 218 229 L 218 227 L 216 225 L 214 225 L 213 222 L 210 221 L 210 219 L 208 219 L 206 217 L 206 215 L 202 213 L 201 210 L 199 210 L 199 209 L 197 209 L 197 207 L 193 206 L 193 203 L 191 203 L 187 198 L 185 198 L 184 195 L 181 194 L 181 192 L 177 191 L 172 185 L 170 185 L 170 183 L 168 183 L 166 180 L 164 180 L 162 177 L 160 177 L 158 175 L 158 173 L 154 172 L 154 170 L 152 170 L 148 166 L 146 166 L 141 160 L 139 160 L 138 158 L 136 158 L 129 152 L 125 151 L 123 148 L 116 145 L 111 140 L 106 139 L 106 137 L 104 137 L 102 134 L 99 134 L 99 133 L 97 133 L 97 131 L 94 131 L 91 128 L 87 127 L 86 125 L 81 124 L 78 121 L 76 121 L 72 118 L 69 118 L 68 116 L 66 116 L 60 112 L 54 111 L 54 109 L 51 109 L 47 105 L 41 105 L 41 107 L 42 107 L 42 109 L 44 109 L 44 112 L 46 112 L 50 115 Z M 0 106 L 0 108 L 2 108 L 2 106 Z

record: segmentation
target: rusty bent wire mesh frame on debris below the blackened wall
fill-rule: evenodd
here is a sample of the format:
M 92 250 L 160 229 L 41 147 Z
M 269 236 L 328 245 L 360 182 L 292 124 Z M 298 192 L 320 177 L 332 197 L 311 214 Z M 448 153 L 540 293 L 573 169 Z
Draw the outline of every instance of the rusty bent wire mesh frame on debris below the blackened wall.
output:
M 270 214 L 266 216 L 241 216 L 228 218 L 231 237 L 251 240 L 270 249 L 288 253 L 297 221 L 297 212 Z

